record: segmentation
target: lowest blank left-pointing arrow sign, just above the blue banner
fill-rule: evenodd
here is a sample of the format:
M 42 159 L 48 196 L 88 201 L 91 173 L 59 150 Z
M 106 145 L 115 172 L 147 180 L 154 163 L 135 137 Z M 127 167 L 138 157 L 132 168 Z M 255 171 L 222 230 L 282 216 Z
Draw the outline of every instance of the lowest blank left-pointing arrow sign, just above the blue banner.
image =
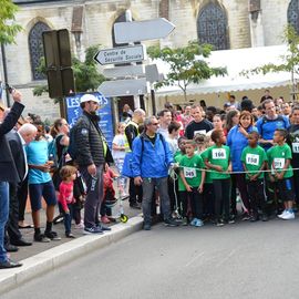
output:
M 147 93 L 146 79 L 128 79 L 103 82 L 97 91 L 106 97 L 122 95 L 141 95 Z

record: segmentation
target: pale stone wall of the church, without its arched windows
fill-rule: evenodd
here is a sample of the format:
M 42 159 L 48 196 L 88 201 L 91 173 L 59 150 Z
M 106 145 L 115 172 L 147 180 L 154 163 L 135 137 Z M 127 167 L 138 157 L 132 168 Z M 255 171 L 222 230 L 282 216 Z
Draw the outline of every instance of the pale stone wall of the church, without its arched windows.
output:
M 17 44 L 6 48 L 9 82 L 23 89 L 29 111 L 53 118 L 59 114 L 58 106 L 52 104 L 53 101 L 45 95 L 42 97 L 32 95 L 32 86 L 37 82 L 31 78 L 28 34 L 35 22 L 43 21 L 51 29 L 66 28 L 71 31 L 73 7 L 83 6 L 82 48 L 86 49 L 93 44 L 111 48 L 113 23 L 126 9 L 131 9 L 134 20 L 154 19 L 168 14 L 169 21 L 176 25 L 176 29 L 161 42 L 163 45 L 182 47 L 189 40 L 197 39 L 197 16 L 209 1 L 217 0 L 65 0 L 60 1 L 59 4 L 21 6 L 17 21 L 23 25 L 24 30 L 18 34 Z M 248 0 L 219 0 L 218 3 L 227 13 L 230 49 L 250 47 Z M 265 45 L 281 43 L 280 37 L 287 23 L 288 4 L 289 0 L 261 0 Z M 71 41 L 71 47 L 74 49 L 74 39 L 72 38 Z M 158 42 L 144 43 L 150 45 Z

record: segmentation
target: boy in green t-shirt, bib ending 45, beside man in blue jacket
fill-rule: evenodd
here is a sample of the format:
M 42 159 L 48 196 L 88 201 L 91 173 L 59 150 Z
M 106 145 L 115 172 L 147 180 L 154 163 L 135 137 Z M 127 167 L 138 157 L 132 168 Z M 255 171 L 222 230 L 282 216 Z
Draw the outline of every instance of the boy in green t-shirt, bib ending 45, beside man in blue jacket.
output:
M 196 144 L 194 141 L 186 141 L 185 151 L 186 155 L 181 159 L 181 178 L 185 185 L 186 193 L 184 200 L 190 198 L 190 208 L 193 220 L 190 225 L 199 227 L 203 226 L 203 190 L 205 182 L 204 162 L 200 155 L 195 154 Z

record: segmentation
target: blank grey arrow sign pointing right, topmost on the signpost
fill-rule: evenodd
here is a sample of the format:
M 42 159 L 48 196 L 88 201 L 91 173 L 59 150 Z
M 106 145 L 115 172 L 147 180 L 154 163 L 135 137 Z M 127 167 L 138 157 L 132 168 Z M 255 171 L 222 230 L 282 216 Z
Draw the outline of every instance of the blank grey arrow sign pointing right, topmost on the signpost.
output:
M 175 25 L 164 18 L 120 22 L 114 24 L 114 34 L 116 43 L 156 40 L 166 38 Z

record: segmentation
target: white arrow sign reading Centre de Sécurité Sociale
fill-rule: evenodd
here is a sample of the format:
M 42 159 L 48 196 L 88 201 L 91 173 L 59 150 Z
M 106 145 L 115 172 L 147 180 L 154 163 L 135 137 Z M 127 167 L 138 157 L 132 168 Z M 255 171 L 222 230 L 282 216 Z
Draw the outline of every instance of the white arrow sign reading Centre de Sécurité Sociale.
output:
M 94 56 L 94 60 L 102 65 L 136 62 L 145 59 L 146 49 L 143 44 L 101 50 Z

